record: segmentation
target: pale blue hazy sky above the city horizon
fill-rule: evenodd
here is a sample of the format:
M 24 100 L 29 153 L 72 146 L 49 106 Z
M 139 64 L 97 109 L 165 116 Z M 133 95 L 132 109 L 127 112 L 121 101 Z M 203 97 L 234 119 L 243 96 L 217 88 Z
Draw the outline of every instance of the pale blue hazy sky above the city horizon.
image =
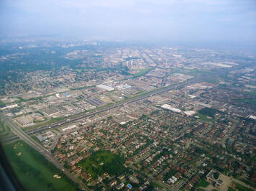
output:
M 256 42 L 256 0 L 1 0 L 0 35 Z

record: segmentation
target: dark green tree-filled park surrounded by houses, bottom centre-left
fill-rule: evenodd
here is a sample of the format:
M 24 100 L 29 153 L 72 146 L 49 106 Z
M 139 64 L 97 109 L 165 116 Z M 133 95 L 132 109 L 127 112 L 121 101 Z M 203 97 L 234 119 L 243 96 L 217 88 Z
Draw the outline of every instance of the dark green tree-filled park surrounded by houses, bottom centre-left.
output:
M 99 150 L 81 160 L 78 165 L 94 179 L 105 172 L 110 175 L 120 174 L 125 169 L 123 162 L 125 162 L 123 157 L 107 150 Z

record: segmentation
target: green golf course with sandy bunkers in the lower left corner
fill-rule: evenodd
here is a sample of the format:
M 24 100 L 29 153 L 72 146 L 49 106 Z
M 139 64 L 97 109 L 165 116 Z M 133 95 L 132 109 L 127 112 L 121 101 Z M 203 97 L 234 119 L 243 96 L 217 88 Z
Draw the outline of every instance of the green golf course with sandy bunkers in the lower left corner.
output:
M 74 183 L 24 141 L 4 146 L 6 157 L 25 190 L 75 190 Z M 53 177 L 61 176 L 60 179 Z

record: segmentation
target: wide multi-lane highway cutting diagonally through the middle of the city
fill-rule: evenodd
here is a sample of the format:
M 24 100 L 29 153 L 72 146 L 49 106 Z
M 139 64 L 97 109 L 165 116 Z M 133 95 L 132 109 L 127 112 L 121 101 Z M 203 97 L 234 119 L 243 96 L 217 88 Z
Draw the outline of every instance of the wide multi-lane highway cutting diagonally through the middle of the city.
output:
M 138 95 L 136 97 L 133 97 L 133 98 L 129 98 L 128 100 L 125 100 L 125 101 L 120 101 L 119 103 L 115 103 L 113 105 L 110 105 L 110 106 L 106 106 L 104 108 L 100 108 L 100 109 L 97 109 L 95 111 L 91 111 L 89 113 L 81 113 L 79 114 L 78 116 L 71 116 L 70 118 L 66 118 L 62 121 L 58 121 L 58 122 L 55 122 L 53 124 L 50 124 L 50 125 L 46 125 L 46 126 L 40 126 L 40 127 L 37 127 L 35 129 L 30 129 L 30 130 L 27 130 L 25 131 L 28 135 L 33 135 L 33 134 L 37 134 L 37 133 L 40 133 L 42 131 L 46 131 L 46 130 L 50 130 L 50 129 L 54 129 L 58 126 L 64 126 L 66 124 L 70 124 L 70 123 L 73 123 L 75 121 L 78 121 L 82 118 L 87 118 L 89 116 L 95 116 L 99 113 L 102 113 L 102 112 L 105 112 L 105 111 L 108 111 L 108 110 L 111 110 L 113 108 L 118 108 L 120 106 L 123 106 L 125 104 L 128 104 L 128 103 L 134 103 L 134 102 L 137 102 L 137 101 L 141 101 L 145 98 L 149 98 L 151 96 L 154 96 L 154 95 L 159 95 L 159 94 L 162 94 L 162 93 L 166 93 L 168 92 L 169 90 L 175 90 L 175 89 L 180 89 L 180 88 L 183 88 L 185 85 L 188 85 L 190 83 L 196 83 L 196 82 L 199 82 L 200 80 L 202 80 L 203 77 L 198 77 L 198 78 L 193 78 L 191 80 L 186 80 L 182 83 L 177 83 L 177 84 L 174 84 L 174 85 L 169 85 L 167 87 L 164 87 L 164 88 L 161 88 L 159 90 L 154 90 L 152 91 L 151 93 L 146 93 L 144 95 Z M 8 143 L 10 141 L 15 141 L 19 139 L 18 136 L 15 136 L 15 135 L 12 135 L 12 136 L 6 136 L 3 138 L 3 142 L 4 143 Z

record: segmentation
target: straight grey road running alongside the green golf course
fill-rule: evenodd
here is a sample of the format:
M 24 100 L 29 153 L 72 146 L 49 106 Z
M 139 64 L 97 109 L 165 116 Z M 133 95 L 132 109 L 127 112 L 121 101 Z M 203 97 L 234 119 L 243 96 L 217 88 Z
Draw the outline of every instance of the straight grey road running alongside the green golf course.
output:
M 14 132 L 14 134 L 19 136 L 20 139 L 22 139 L 27 144 L 32 146 L 32 148 L 37 150 L 37 152 L 40 152 L 40 154 L 42 154 L 45 157 L 45 159 L 48 159 L 48 161 L 51 162 L 52 164 L 54 164 L 58 169 L 61 169 L 61 171 L 64 174 L 66 174 L 66 176 L 69 177 L 71 180 L 73 180 L 74 182 L 79 183 L 79 186 L 81 187 L 81 189 L 83 189 L 83 190 L 90 190 L 86 185 L 84 185 L 83 182 L 81 182 L 79 179 L 74 177 L 73 174 L 71 174 L 69 172 L 69 170 L 65 169 L 65 167 L 63 167 L 63 165 L 60 164 L 50 154 L 50 152 L 47 149 L 45 149 L 43 146 L 38 144 L 34 139 L 32 139 L 29 135 L 27 135 L 24 131 L 22 131 L 22 129 L 20 129 L 16 124 L 14 124 L 9 118 L 4 118 L 4 121 L 5 121 L 6 125 L 8 125 L 9 128 L 12 130 L 12 132 Z

